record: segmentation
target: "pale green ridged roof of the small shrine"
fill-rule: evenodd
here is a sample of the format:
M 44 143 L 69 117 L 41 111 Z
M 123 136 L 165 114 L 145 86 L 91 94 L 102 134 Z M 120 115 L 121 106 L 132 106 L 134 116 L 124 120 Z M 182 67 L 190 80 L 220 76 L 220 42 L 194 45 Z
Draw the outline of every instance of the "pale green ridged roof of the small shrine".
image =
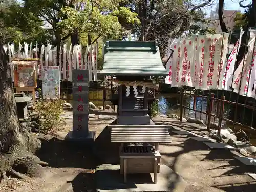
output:
M 166 76 L 155 41 L 106 41 L 104 75 Z

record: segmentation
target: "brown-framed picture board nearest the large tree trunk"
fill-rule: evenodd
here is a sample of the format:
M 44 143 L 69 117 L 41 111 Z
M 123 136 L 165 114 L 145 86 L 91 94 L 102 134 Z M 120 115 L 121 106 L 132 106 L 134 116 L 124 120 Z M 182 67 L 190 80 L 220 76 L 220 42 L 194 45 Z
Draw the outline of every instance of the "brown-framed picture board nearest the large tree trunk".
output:
M 14 87 L 36 87 L 37 61 L 12 61 L 14 65 Z

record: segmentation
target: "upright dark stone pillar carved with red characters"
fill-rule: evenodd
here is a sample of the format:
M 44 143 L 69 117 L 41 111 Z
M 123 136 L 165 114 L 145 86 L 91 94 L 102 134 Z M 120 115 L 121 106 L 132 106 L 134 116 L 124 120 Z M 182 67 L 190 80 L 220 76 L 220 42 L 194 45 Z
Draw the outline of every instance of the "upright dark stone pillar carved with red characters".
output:
M 73 132 L 88 134 L 89 73 L 85 69 L 72 70 L 73 83 Z

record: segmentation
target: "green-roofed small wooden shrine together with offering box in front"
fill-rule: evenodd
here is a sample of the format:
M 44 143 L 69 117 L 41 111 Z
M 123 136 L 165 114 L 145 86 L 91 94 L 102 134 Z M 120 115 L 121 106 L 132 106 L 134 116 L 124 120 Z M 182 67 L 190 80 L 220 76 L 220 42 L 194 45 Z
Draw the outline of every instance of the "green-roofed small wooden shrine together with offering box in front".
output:
M 148 115 L 152 80 L 168 73 L 162 65 L 155 41 L 107 41 L 102 74 L 118 85 L 112 102 L 117 104 L 117 125 L 111 125 L 111 142 L 119 143 L 120 173 L 159 173 L 161 142 L 171 142 L 168 127 L 155 125 Z

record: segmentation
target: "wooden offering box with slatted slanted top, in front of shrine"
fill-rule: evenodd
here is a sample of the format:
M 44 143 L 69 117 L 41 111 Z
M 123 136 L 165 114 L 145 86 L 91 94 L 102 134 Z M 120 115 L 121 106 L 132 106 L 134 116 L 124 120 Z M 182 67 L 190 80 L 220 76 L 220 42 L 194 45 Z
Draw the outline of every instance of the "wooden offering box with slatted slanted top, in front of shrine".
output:
M 154 183 L 157 183 L 161 155 L 158 150 L 159 143 L 172 142 L 169 127 L 166 125 L 110 125 L 111 142 L 120 143 L 120 173 L 123 174 L 124 183 L 127 173 L 154 173 Z M 125 143 L 153 143 L 155 148 L 148 153 L 125 153 Z M 148 145 L 150 147 L 151 145 Z M 143 147 L 139 145 L 138 147 Z

